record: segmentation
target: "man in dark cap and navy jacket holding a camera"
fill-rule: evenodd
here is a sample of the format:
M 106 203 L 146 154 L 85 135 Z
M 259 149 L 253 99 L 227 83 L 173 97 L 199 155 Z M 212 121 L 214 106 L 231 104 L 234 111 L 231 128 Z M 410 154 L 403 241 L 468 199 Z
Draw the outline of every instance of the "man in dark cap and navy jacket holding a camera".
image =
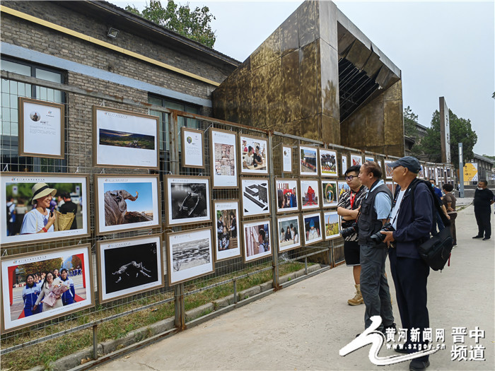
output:
M 429 186 L 417 179 L 420 170 L 417 158 L 406 156 L 390 164 L 392 179 L 399 187 L 390 214 L 394 231 L 382 231 L 390 245 L 388 256 L 390 271 L 395 284 L 395 294 L 402 328 L 407 329 L 407 341 L 400 353 L 414 353 L 427 345 L 423 329 L 430 327 L 426 307 L 426 281 L 429 266 L 419 257 L 418 246 L 427 240 L 433 227 L 433 195 Z M 414 187 L 414 192 L 412 192 Z M 414 194 L 413 194 L 414 193 Z M 414 210 L 412 198 L 414 197 Z M 412 337 L 412 329 L 419 329 L 419 336 Z M 409 370 L 426 370 L 429 355 L 415 358 Z

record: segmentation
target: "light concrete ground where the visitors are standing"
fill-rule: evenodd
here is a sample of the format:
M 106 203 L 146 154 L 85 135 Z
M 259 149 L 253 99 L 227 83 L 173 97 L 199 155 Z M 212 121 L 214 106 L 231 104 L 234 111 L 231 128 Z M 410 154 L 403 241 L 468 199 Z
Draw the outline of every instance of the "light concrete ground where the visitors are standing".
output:
M 459 204 L 466 203 L 462 201 Z M 491 218 L 493 228 L 493 213 Z M 445 349 L 431 355 L 428 370 L 494 370 L 494 239 L 472 240 L 477 234 L 472 206 L 460 211 L 456 224 L 458 247 L 450 266 L 429 276 L 433 338 L 443 329 L 445 342 L 440 343 Z M 391 279 L 389 283 L 400 327 L 395 288 Z M 363 330 L 364 305 L 347 305 L 353 296 L 351 269 L 338 266 L 96 369 L 409 370 L 409 362 L 373 365 L 370 346 L 339 355 L 339 349 Z M 465 359 L 452 360 L 453 327 L 466 327 L 470 334 L 476 326 L 485 331 L 484 338 L 477 344 L 465 336 L 464 343 L 455 344 L 464 347 Z M 380 350 L 380 357 L 388 355 L 397 353 Z M 462 351 L 460 355 L 464 358 Z

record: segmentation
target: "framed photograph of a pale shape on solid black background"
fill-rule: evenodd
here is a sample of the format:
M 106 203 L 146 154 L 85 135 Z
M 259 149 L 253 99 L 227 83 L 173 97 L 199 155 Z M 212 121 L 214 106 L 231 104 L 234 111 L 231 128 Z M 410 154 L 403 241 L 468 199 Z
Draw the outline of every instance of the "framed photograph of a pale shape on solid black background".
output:
M 98 241 L 96 253 L 100 302 L 165 285 L 161 235 Z

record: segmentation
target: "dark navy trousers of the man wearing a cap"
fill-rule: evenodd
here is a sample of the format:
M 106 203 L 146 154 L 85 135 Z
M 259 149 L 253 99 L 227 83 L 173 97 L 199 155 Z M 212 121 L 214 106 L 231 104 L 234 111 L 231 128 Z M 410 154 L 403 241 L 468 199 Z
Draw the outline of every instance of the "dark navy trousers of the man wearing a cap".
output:
M 428 308 L 426 307 L 426 283 L 430 273 L 429 266 L 422 259 L 397 257 L 397 249 L 388 251 L 390 271 L 395 285 L 397 306 L 399 307 L 402 329 L 407 329 L 407 343 L 411 352 L 419 351 L 419 346 L 427 345 L 423 341 L 423 331 L 430 327 Z M 417 341 L 411 341 L 411 329 L 419 328 Z M 416 346 L 414 348 L 414 346 Z M 418 358 L 428 360 L 429 355 Z

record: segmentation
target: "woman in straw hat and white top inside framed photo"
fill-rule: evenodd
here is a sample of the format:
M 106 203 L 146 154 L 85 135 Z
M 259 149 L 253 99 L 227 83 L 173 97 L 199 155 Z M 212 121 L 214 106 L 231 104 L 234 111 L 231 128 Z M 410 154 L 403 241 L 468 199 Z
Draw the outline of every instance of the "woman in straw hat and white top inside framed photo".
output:
M 50 214 L 50 201 L 52 196 L 57 194 L 57 189 L 48 187 L 46 183 L 36 183 L 31 190 L 33 191 L 31 204 L 34 204 L 35 208 L 25 214 L 21 235 L 53 232 L 56 217 L 54 213 Z

